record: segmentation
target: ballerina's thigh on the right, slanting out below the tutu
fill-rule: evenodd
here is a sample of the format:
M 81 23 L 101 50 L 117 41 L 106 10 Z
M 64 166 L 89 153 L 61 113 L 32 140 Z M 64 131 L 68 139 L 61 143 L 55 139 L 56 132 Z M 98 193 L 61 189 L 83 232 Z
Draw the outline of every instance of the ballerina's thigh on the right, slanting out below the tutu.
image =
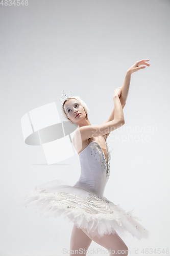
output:
M 113 254 L 119 254 L 119 255 L 124 255 L 126 256 L 128 254 L 128 247 L 125 244 L 125 242 L 118 236 L 117 233 L 115 234 L 104 234 L 104 236 L 102 238 L 98 238 L 96 236 L 91 237 L 91 235 L 87 232 L 87 230 L 82 229 L 87 236 L 94 241 L 95 243 L 103 246 L 104 248 L 106 248 L 107 250 L 114 250 L 115 253 Z M 121 253 L 118 250 L 123 250 Z M 127 251 L 126 251 L 127 250 Z M 124 252 L 125 251 L 125 252 Z

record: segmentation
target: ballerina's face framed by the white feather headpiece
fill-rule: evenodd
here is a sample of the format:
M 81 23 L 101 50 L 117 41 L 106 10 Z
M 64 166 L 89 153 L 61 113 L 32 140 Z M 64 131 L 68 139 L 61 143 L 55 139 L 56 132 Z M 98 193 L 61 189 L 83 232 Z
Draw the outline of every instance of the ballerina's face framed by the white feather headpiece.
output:
M 77 99 L 67 100 L 64 104 L 64 111 L 69 120 L 74 123 L 78 123 L 83 118 L 86 118 L 86 112 Z M 77 114 L 79 115 L 77 116 Z

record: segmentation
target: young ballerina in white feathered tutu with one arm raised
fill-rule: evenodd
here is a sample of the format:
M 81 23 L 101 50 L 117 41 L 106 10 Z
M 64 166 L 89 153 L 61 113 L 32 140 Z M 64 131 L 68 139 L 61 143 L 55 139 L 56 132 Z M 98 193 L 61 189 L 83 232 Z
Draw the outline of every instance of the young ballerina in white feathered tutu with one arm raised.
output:
M 131 74 L 145 68 L 139 67 L 141 65 L 150 66 L 147 61 L 137 61 L 127 71 L 123 86 L 114 91 L 114 109 L 101 125 L 91 125 L 88 108 L 79 96 L 62 96 L 62 113 L 78 127 L 72 143 L 81 164 L 79 181 L 74 186 L 61 180 L 39 185 L 27 194 L 23 204 L 37 206 L 46 216 L 57 217 L 62 214 L 74 223 L 70 255 L 86 255 L 91 241 L 94 241 L 109 250 L 110 255 L 116 253 L 126 256 L 128 247 L 121 236 L 130 232 L 138 240 L 149 237 L 150 232 L 138 223 L 140 219 L 134 217 L 132 211 L 125 211 L 103 196 L 110 176 L 107 137 L 125 124 L 123 109 Z

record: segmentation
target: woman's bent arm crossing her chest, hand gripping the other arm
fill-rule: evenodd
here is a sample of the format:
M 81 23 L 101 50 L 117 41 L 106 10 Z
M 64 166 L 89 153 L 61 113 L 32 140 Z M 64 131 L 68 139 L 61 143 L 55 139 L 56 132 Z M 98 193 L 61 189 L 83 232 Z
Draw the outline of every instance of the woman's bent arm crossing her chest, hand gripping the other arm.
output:
M 118 90 L 118 89 L 116 89 L 116 90 Z M 110 133 L 110 132 L 116 130 L 117 128 L 119 128 L 120 126 L 125 124 L 122 104 L 120 103 L 119 95 L 117 94 L 116 90 L 115 90 L 115 93 L 113 96 L 114 119 L 109 122 L 105 122 L 101 125 L 86 125 L 86 126 L 80 127 L 76 131 L 77 139 L 81 139 L 81 141 L 85 141 L 92 137 L 103 136 L 107 133 Z

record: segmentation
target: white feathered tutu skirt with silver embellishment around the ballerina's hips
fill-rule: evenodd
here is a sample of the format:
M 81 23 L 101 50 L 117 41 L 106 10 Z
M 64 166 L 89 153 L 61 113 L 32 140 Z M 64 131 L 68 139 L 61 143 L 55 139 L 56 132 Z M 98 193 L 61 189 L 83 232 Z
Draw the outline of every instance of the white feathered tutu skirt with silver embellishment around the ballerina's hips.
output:
M 99 198 L 62 180 L 50 181 L 32 190 L 16 190 L 14 198 L 17 204 L 29 206 L 45 217 L 67 217 L 92 237 L 101 238 L 110 233 L 125 237 L 130 233 L 140 240 L 150 236 L 150 232 L 138 223 L 141 220 L 133 216 L 134 209 L 125 211 L 105 197 Z

